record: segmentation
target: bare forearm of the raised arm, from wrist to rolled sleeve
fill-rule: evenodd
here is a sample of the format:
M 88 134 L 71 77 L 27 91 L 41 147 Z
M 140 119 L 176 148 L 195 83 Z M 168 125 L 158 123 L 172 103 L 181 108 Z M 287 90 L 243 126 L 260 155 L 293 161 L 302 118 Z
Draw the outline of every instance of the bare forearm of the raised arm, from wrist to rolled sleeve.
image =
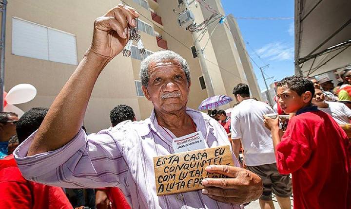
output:
M 94 84 L 108 61 L 93 52 L 85 54 L 51 105 L 27 156 L 56 150 L 76 136 Z

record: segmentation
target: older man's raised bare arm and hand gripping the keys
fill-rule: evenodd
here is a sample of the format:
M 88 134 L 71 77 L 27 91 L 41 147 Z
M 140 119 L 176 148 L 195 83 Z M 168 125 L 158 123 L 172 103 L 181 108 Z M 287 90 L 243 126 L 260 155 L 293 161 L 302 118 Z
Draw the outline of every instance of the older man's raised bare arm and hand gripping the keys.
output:
M 92 44 L 51 105 L 27 156 L 56 150 L 77 135 L 98 75 L 123 50 L 128 24 L 136 26 L 136 17 L 133 8 L 119 4 L 95 20 Z

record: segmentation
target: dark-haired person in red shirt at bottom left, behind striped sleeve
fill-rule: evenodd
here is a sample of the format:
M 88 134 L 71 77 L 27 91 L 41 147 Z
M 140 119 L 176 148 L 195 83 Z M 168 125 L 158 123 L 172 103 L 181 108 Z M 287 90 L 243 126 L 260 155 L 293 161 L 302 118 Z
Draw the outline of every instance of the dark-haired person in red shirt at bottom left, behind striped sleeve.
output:
M 37 130 L 48 109 L 28 110 L 17 122 L 20 143 Z M 13 155 L 0 160 L 0 209 L 73 209 L 62 188 L 28 181 Z

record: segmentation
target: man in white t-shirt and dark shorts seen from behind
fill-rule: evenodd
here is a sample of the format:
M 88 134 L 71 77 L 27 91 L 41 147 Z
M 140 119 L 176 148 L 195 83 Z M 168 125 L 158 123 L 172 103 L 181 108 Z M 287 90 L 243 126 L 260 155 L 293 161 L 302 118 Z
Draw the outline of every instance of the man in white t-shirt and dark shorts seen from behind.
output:
M 241 141 L 246 168 L 262 178 L 261 209 L 274 209 L 272 192 L 276 194 L 281 209 L 290 209 L 291 179 L 277 171 L 272 136 L 263 125 L 263 115 L 274 111 L 268 104 L 250 99 L 250 89 L 246 84 L 234 87 L 233 94 L 239 103 L 231 114 L 233 151 L 238 158 Z

